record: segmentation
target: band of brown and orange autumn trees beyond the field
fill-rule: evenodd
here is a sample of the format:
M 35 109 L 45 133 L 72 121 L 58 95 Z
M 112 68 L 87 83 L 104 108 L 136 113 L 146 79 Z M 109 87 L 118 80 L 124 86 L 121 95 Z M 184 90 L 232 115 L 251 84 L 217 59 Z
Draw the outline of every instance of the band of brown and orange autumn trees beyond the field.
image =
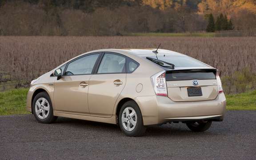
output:
M 112 36 L 256 29 L 253 0 L 222 1 L 225 6 L 216 0 L 0 0 L 0 35 Z

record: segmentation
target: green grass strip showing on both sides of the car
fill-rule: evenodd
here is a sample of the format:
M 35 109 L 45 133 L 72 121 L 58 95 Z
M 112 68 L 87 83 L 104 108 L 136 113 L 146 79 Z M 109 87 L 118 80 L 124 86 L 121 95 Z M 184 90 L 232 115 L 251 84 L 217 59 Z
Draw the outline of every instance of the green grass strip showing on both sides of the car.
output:
M 27 114 L 28 88 L 0 92 L 0 115 Z M 256 91 L 226 95 L 227 110 L 256 110 Z

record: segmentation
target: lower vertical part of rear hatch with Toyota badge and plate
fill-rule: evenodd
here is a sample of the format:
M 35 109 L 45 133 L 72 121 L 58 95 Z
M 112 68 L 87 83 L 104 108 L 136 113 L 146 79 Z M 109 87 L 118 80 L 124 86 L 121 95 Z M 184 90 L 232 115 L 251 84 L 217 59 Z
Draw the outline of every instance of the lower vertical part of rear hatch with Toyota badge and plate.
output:
M 214 100 L 218 96 L 216 69 L 168 70 L 166 83 L 173 101 Z

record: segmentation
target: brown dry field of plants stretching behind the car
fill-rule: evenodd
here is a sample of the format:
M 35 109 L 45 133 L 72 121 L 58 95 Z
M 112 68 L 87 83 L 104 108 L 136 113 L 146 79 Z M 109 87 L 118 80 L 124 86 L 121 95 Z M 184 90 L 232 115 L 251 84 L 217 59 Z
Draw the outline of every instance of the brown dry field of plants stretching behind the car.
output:
M 0 82 L 29 82 L 90 50 L 156 48 L 159 43 L 218 68 L 227 92 L 255 89 L 256 37 L 0 36 Z M 237 88 L 239 80 L 244 84 Z

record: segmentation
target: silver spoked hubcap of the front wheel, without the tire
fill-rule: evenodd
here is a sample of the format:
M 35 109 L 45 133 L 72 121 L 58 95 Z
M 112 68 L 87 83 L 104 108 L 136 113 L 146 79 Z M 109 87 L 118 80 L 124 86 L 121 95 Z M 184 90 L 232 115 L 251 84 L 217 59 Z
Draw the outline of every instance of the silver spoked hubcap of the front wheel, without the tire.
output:
M 43 97 L 36 100 L 35 111 L 36 111 L 36 116 L 38 118 L 42 120 L 47 118 L 50 111 L 50 104 L 48 100 L 46 100 Z

